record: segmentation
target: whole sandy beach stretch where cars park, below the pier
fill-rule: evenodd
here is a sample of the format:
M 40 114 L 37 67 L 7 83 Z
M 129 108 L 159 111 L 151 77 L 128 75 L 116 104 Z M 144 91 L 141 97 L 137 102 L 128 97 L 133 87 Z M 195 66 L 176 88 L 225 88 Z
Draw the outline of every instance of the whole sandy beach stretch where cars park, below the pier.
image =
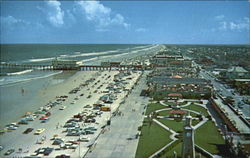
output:
M 48 122 L 41 123 L 41 120 L 39 120 L 41 115 L 39 115 L 39 117 L 34 121 L 30 121 L 28 125 L 19 125 L 20 127 L 18 127 L 16 130 L 12 132 L 6 132 L 5 134 L 1 135 L 0 145 L 4 147 L 4 149 L 1 151 L 1 157 L 8 149 L 11 148 L 15 149 L 15 153 L 13 153 L 11 157 L 24 157 L 32 155 L 35 150 L 43 147 L 54 148 L 49 157 L 55 157 L 61 154 L 68 154 L 71 157 L 79 157 L 79 154 L 83 156 L 88 150 L 87 146 L 90 143 L 94 143 L 96 137 L 100 134 L 102 130 L 101 127 L 107 124 L 107 120 L 111 116 L 111 112 L 117 110 L 118 106 L 123 101 L 123 98 L 129 93 L 129 91 L 117 93 L 117 99 L 115 99 L 112 104 L 109 104 L 109 107 L 111 107 L 111 112 L 103 112 L 103 114 L 96 116 L 95 123 L 79 122 L 80 127 L 86 128 L 91 126 L 96 128 L 97 131 L 95 131 L 94 134 L 83 135 L 84 137 L 88 137 L 90 139 L 89 142 L 81 142 L 77 145 L 76 149 L 55 150 L 55 148 L 58 148 L 59 146 L 52 145 L 53 141 L 49 139 L 51 139 L 54 135 L 59 135 L 64 139 L 64 142 L 69 140 L 77 140 L 79 136 L 65 136 L 66 133 L 63 133 L 63 131 L 66 128 L 63 128 L 62 126 L 67 120 L 72 118 L 73 115 L 76 115 L 82 111 L 96 111 L 92 109 L 93 104 L 95 104 L 99 98 L 105 94 L 102 92 L 106 91 L 106 87 L 109 86 L 110 83 L 114 83 L 114 76 L 118 73 L 118 71 L 77 72 L 64 82 L 39 91 L 39 95 L 35 99 L 37 100 L 36 103 L 40 106 L 46 105 L 49 101 L 55 101 L 56 96 L 67 95 L 68 98 L 66 98 L 66 100 L 61 104 L 54 106 L 49 110 L 51 116 L 49 117 L 50 119 Z M 141 72 L 134 72 L 130 75 L 124 76 L 123 79 L 126 81 L 126 89 L 131 89 L 140 75 Z M 89 82 L 89 84 L 86 86 L 81 86 L 77 93 L 69 94 L 72 89 L 79 87 L 83 83 L 86 83 L 86 81 L 89 79 L 92 79 L 92 82 Z M 83 94 L 83 96 L 80 96 L 80 94 Z M 89 95 L 91 95 L 91 97 L 89 97 Z M 72 104 L 73 102 L 74 104 Z M 84 108 L 86 105 L 90 105 L 91 108 Z M 66 106 L 66 108 L 64 110 L 60 110 L 60 107 L 62 106 Z M 23 131 L 25 131 L 27 128 L 34 128 L 34 130 L 29 134 L 23 134 Z M 40 135 L 34 135 L 34 132 L 39 128 L 44 128 L 45 131 Z M 43 144 L 37 144 L 37 142 L 41 139 L 45 139 Z M 22 151 L 20 150 L 19 152 L 19 148 L 21 148 Z M 42 156 L 42 154 L 39 156 Z

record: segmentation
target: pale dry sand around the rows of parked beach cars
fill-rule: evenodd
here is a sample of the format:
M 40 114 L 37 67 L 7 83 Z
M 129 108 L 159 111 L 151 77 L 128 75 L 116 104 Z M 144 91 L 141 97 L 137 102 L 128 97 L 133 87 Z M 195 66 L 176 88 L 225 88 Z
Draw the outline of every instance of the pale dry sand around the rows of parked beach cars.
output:
M 118 71 L 104 71 L 104 72 L 97 72 L 97 71 L 84 71 L 84 72 L 77 72 L 72 77 L 68 78 L 67 80 L 63 81 L 62 83 L 52 85 L 46 89 L 41 89 L 39 91 L 39 94 L 35 97 L 36 105 L 44 106 L 49 101 L 55 101 L 56 96 L 61 95 L 68 95 L 69 97 L 66 99 L 65 102 L 62 104 L 67 106 L 65 110 L 59 110 L 59 107 L 61 105 L 58 105 L 56 107 L 53 107 L 51 112 L 50 120 L 47 123 L 40 123 L 39 119 L 36 119 L 32 121 L 29 125 L 21 125 L 16 131 L 8 132 L 0 136 L 0 145 L 4 146 L 4 150 L 1 152 L 0 156 L 3 156 L 3 153 L 7 151 L 10 148 L 17 149 L 22 148 L 23 150 L 29 150 L 28 153 L 15 153 L 11 156 L 27 156 L 33 153 L 36 149 L 39 147 L 56 147 L 52 146 L 52 141 L 47 140 L 44 144 L 36 144 L 37 140 L 41 139 L 42 136 L 46 136 L 47 139 L 52 138 L 54 134 L 58 134 L 62 137 L 64 137 L 67 140 L 76 140 L 77 137 L 65 137 L 66 133 L 62 133 L 63 128 L 56 128 L 57 124 L 64 125 L 64 123 L 73 115 L 78 114 L 83 110 L 83 107 L 85 105 L 93 105 L 100 96 L 103 95 L 103 93 L 100 93 L 101 91 L 105 90 L 108 83 L 113 83 L 114 75 L 117 74 Z M 109 79 L 102 78 L 104 74 L 110 75 L 111 77 Z M 140 76 L 140 73 L 133 73 L 131 75 L 132 80 L 129 80 L 128 87 L 132 87 L 138 77 Z M 93 83 L 90 83 L 90 85 L 83 87 L 80 92 L 77 94 L 68 94 L 69 91 L 71 91 L 73 88 L 78 87 L 80 84 L 84 83 L 86 80 L 90 78 L 95 78 L 97 80 L 100 80 L 100 83 L 97 85 L 94 85 Z M 96 90 L 96 87 L 99 85 L 104 85 L 101 89 L 98 90 L 98 93 L 94 93 Z M 89 89 L 89 90 L 88 90 Z M 84 94 L 83 97 L 80 97 L 79 100 L 76 101 L 75 104 L 71 104 L 71 102 L 74 100 L 75 97 L 79 96 L 81 93 Z M 91 98 L 87 98 L 87 96 L 91 94 Z M 120 105 L 120 102 L 122 102 L 124 96 L 127 94 L 127 92 L 123 92 L 118 94 L 118 99 L 111 105 L 112 111 L 115 111 L 118 106 Z M 88 135 L 88 137 L 91 138 L 91 140 L 94 140 L 98 134 L 101 132 L 101 126 L 105 125 L 107 123 L 107 119 L 110 117 L 110 112 L 104 112 L 102 117 L 96 117 L 96 121 L 98 124 L 91 124 L 91 126 L 95 126 L 98 128 L 97 132 L 95 132 L 94 135 Z M 34 130 L 29 134 L 22 134 L 22 132 L 27 128 L 34 128 Z M 41 135 L 34 135 L 34 131 L 38 128 L 45 128 L 46 131 L 42 133 Z M 15 140 L 15 141 L 14 141 Z M 87 151 L 86 147 L 87 143 L 81 143 L 81 148 L 77 148 L 76 152 L 73 152 L 72 149 L 68 150 L 60 150 L 60 151 L 53 151 L 50 157 L 55 157 L 59 154 L 70 154 L 72 157 L 78 157 L 79 152 L 81 155 L 83 155 Z M 79 150 L 80 149 L 80 150 Z

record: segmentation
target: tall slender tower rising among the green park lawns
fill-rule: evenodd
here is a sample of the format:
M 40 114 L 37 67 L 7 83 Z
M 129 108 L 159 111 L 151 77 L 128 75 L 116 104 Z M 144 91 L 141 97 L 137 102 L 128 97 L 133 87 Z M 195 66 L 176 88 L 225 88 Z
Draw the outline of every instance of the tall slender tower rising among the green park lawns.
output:
M 186 116 L 183 130 L 182 158 L 195 158 L 194 151 L 194 128 L 192 127 L 192 116 Z

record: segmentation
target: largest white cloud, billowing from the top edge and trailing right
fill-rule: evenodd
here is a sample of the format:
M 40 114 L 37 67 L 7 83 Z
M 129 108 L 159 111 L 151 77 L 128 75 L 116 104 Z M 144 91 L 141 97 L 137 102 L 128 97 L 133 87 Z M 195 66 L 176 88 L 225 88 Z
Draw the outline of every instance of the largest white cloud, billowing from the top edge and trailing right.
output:
M 111 8 L 101 4 L 99 1 L 78 1 L 81 13 L 88 21 L 94 22 L 96 30 L 108 30 L 109 26 L 123 26 L 127 28 L 130 24 L 126 23 L 121 14 L 113 13 Z

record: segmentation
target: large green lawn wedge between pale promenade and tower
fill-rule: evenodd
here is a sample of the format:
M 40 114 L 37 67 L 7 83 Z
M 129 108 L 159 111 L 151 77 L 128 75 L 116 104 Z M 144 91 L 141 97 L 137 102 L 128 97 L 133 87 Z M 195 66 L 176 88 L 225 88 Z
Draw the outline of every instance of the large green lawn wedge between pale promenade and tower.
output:
M 144 120 L 147 121 L 147 119 Z M 158 124 L 153 122 L 151 127 L 148 123 L 145 123 L 145 125 L 142 127 L 142 136 L 137 147 L 136 158 L 147 158 L 171 142 L 169 138 L 171 133 Z

